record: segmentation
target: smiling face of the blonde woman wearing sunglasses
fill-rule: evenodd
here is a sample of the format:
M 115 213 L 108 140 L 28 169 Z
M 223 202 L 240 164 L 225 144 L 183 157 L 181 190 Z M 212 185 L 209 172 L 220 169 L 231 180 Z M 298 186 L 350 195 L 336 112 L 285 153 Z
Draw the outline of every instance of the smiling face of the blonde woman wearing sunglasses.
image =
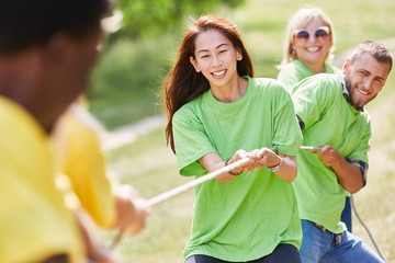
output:
M 328 34 L 317 37 L 316 32 L 318 30 L 324 30 Z M 297 33 L 301 31 L 308 32 L 308 37 L 297 37 Z M 332 37 L 329 27 L 319 19 L 313 19 L 304 28 L 298 28 L 298 31 L 295 32 L 292 48 L 295 50 L 296 57 L 309 69 L 313 71 L 321 71 L 331 45 Z

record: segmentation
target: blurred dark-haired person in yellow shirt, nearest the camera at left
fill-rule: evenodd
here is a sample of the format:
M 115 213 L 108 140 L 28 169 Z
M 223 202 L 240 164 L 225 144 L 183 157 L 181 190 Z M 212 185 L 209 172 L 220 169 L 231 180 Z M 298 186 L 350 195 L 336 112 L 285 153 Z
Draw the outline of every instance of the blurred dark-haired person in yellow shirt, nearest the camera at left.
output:
M 55 184 L 49 135 L 84 91 L 108 0 L 3 0 L 0 15 L 0 262 L 86 262 Z

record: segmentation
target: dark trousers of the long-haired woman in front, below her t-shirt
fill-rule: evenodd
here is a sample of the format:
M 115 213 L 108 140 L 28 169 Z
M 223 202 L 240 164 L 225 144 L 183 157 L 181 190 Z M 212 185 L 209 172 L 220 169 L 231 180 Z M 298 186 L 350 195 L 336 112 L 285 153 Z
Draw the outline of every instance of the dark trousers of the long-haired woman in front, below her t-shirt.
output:
M 261 259 L 248 261 L 248 263 L 302 263 L 296 247 L 287 243 L 279 244 L 274 251 Z M 187 259 L 185 263 L 230 263 L 208 255 L 195 254 Z M 237 262 L 232 262 L 237 263 Z

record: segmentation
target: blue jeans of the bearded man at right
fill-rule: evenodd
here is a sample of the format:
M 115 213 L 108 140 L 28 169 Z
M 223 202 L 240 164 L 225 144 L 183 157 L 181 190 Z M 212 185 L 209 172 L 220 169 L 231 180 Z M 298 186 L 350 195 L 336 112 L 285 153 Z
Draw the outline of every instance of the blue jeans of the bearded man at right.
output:
M 328 230 L 323 231 L 312 221 L 301 222 L 303 240 L 300 252 L 303 263 L 384 263 L 361 239 L 349 231 L 335 235 Z

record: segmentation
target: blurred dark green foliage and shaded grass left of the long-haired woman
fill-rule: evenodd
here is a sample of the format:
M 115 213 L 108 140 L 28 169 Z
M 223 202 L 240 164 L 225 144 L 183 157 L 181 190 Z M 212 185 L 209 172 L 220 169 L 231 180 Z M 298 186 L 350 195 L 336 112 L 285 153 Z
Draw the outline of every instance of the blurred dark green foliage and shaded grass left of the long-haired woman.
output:
M 116 0 L 122 26 L 105 37 L 88 94 L 90 110 L 109 129 L 159 114 L 158 92 L 188 16 L 244 0 Z M 170 52 L 171 50 L 171 52 Z

